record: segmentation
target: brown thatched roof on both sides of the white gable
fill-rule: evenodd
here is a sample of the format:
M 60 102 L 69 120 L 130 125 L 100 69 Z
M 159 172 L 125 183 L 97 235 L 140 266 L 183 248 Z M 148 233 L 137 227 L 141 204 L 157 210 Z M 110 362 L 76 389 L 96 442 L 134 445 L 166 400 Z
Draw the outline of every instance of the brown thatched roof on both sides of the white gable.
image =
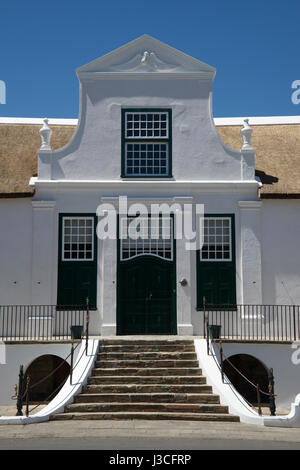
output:
M 251 144 L 256 148 L 256 174 L 263 183 L 263 198 L 300 197 L 300 124 L 250 125 Z M 64 146 L 75 125 L 52 125 L 51 146 Z M 37 150 L 41 146 L 41 124 L 0 123 L 0 197 L 33 195 L 28 186 L 37 174 Z M 240 125 L 217 125 L 223 141 L 235 149 L 242 145 Z

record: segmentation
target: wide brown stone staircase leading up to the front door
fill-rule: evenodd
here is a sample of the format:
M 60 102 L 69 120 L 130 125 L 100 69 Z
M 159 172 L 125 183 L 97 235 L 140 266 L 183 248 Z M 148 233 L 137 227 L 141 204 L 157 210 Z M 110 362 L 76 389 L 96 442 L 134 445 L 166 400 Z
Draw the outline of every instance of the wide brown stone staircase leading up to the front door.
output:
M 192 340 L 100 341 L 88 385 L 51 420 L 239 421 L 207 385 Z

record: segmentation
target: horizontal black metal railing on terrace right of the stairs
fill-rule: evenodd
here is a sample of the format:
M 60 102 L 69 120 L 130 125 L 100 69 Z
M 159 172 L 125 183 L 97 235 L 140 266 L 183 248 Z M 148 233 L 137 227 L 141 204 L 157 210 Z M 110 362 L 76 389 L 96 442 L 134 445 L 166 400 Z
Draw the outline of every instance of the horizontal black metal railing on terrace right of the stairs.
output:
M 204 336 L 219 327 L 224 340 L 299 341 L 299 305 L 214 305 L 203 303 Z

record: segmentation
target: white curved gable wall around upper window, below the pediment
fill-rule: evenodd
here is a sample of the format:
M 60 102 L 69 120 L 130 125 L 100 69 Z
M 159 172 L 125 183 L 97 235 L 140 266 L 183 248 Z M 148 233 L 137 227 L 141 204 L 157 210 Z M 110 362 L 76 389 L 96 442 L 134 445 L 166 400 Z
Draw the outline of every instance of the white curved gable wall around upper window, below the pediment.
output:
M 78 128 L 63 149 L 39 152 L 39 178 L 119 181 L 124 107 L 172 109 L 175 180 L 254 179 L 254 154 L 230 149 L 215 128 L 210 81 L 147 78 L 83 82 Z

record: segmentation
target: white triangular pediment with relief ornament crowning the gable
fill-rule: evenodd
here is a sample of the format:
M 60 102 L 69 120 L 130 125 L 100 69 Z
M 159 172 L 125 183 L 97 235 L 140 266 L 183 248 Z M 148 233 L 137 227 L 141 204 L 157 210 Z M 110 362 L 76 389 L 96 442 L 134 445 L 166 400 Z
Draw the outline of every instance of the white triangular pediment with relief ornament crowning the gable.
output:
M 79 77 L 91 73 L 199 73 L 213 78 L 215 69 L 151 36 L 143 35 L 77 69 Z

